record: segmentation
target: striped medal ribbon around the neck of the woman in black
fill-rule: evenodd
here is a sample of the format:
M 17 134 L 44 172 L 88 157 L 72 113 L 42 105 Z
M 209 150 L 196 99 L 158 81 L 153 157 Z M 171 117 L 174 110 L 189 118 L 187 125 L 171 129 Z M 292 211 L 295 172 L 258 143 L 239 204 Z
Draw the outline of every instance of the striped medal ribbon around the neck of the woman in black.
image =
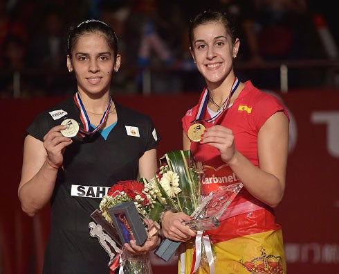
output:
M 107 117 L 109 115 L 109 108 L 111 108 L 111 105 L 113 102 L 111 96 L 109 96 L 109 104 L 107 105 L 107 109 L 105 110 L 104 114 L 102 114 L 100 123 L 96 128 L 93 128 L 91 126 L 91 122 L 89 121 L 89 116 L 87 115 L 87 112 L 84 108 L 84 104 L 82 103 L 79 92 L 76 92 L 74 94 L 73 99 L 74 99 L 75 105 L 77 105 L 77 108 L 79 108 L 80 110 L 80 119 L 82 121 L 82 124 L 84 125 L 84 128 L 79 129 L 78 135 L 80 135 L 80 137 L 83 138 L 86 135 L 91 135 L 94 132 L 97 132 L 98 130 L 100 130 L 100 128 L 102 127 L 104 122 L 107 120 Z

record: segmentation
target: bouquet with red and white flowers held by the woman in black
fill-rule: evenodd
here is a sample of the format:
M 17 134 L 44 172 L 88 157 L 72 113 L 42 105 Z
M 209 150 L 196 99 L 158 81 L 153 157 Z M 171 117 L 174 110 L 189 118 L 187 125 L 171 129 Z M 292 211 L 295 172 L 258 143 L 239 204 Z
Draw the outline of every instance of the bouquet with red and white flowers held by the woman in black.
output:
M 131 202 L 134 203 L 136 211 L 141 217 L 140 220 L 144 222 L 143 225 L 148 236 L 152 237 L 158 232 L 158 224 L 154 223 L 153 225 L 149 225 L 146 218 L 149 219 L 149 214 L 152 212 L 152 209 L 157 208 L 154 207 L 156 204 L 156 190 L 153 190 L 144 178 L 140 179 L 140 181 L 120 181 L 109 189 L 107 195 L 102 198 L 99 209 L 96 209 L 95 212 L 91 214 L 92 219 L 99 224 L 91 222 L 89 225 L 91 228 L 90 233 L 92 237 L 99 238 L 100 244 L 109 253 L 109 266 L 112 272 L 114 272 L 118 266 L 121 266 L 124 273 L 152 273 L 151 264 L 147 255 L 131 255 L 123 248 L 123 244 L 129 241 L 129 239 L 122 241 L 121 234 L 119 235 L 118 233 L 118 227 L 115 225 L 110 214 L 110 209 Z M 106 233 L 109 237 L 107 237 Z M 133 232 L 131 232 L 131 234 L 133 234 Z M 113 250 L 116 253 L 114 253 Z

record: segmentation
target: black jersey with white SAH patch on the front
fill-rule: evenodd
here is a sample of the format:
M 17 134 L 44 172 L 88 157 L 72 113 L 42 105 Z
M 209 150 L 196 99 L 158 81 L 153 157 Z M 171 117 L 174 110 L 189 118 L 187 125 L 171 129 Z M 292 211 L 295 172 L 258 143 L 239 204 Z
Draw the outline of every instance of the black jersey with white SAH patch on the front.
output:
M 118 121 L 106 140 L 100 132 L 74 137 L 64 152 L 64 169 L 59 169 L 51 198 L 44 273 L 109 273 L 109 255 L 89 234 L 90 215 L 109 187 L 137 177 L 139 158 L 160 140 L 149 117 L 114 103 Z M 43 142 L 48 130 L 65 118 L 82 127 L 73 99 L 39 114 L 27 132 Z

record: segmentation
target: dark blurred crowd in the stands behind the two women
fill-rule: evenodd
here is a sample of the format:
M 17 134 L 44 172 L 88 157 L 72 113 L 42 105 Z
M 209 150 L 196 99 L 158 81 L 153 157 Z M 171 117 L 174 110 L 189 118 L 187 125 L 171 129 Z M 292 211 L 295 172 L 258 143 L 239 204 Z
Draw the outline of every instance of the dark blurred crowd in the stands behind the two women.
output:
M 73 94 L 66 31 L 100 19 L 118 35 L 116 94 L 201 92 L 187 25 L 207 9 L 234 15 L 237 76 L 262 89 L 339 89 L 338 14 L 328 0 L 0 0 L 0 98 Z M 287 69 L 287 71 L 286 71 Z

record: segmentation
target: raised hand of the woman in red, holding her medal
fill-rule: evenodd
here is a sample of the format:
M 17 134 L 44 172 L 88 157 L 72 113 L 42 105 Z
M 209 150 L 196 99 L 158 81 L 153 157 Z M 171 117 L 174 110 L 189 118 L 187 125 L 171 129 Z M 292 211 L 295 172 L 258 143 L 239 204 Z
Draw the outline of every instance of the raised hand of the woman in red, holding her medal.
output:
M 235 155 L 235 136 L 232 130 L 224 126 L 216 125 L 208 128 L 203 133 L 201 144 L 209 144 L 220 151 L 223 162 L 230 162 Z

